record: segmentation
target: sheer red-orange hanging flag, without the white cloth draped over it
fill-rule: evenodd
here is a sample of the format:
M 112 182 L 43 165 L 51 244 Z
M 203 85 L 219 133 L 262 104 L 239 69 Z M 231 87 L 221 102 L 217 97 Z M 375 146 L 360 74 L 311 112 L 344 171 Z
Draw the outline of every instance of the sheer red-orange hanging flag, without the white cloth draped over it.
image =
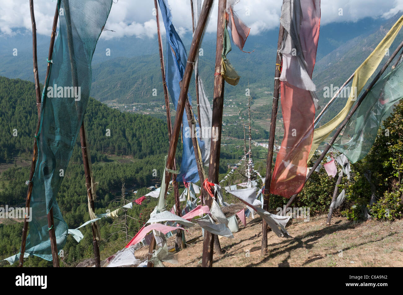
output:
M 318 48 L 320 5 L 318 0 L 301 0 L 299 38 L 307 73 L 312 77 Z M 306 179 L 307 159 L 314 135 L 315 106 L 310 92 L 280 83 L 284 138 L 276 157 L 270 193 L 290 198 L 299 193 Z

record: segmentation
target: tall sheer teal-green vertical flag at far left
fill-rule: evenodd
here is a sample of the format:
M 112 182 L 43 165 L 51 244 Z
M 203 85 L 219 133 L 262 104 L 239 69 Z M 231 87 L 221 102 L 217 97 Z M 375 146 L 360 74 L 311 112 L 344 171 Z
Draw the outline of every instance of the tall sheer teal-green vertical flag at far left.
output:
M 25 254 L 52 260 L 46 218 L 51 209 L 58 250 L 66 243 L 68 228 L 56 201 L 63 180 L 59 171 L 67 169 L 83 122 L 91 89 L 91 60 L 111 6 L 112 0 L 57 2 L 57 9 L 64 13 L 59 15 L 59 33 L 42 94 L 38 158 L 32 179 L 32 221 Z M 53 97 L 54 87 L 74 87 L 74 93 Z

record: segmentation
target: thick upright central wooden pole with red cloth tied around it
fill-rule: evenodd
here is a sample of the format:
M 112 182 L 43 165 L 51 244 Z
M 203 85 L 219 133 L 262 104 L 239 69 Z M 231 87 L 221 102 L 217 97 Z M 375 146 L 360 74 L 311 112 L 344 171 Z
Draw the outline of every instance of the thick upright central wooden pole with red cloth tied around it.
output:
M 218 1 L 217 19 L 217 43 L 216 43 L 216 65 L 215 73 L 221 72 L 221 55 L 224 41 L 224 29 L 226 25 L 226 0 Z M 221 148 L 221 128 L 222 110 L 224 105 L 224 77 L 221 74 L 214 76 L 213 114 L 212 128 L 218 134 L 218 140 L 211 140 L 210 165 L 208 167 L 208 180 L 214 184 L 218 183 L 218 173 L 220 170 L 220 148 Z M 207 198 L 206 204 L 211 208 L 212 198 Z M 212 267 L 214 240 L 218 239 L 209 231 L 204 231 L 202 266 Z

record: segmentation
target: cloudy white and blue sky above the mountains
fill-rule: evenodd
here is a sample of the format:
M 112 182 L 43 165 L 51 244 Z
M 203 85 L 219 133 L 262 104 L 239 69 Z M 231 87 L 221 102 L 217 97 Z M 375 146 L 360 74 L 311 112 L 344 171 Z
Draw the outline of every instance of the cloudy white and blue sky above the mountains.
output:
M 94 1 L 94 0 L 87 0 Z M 153 0 L 113 0 L 106 28 L 101 38 L 113 39 L 125 36 L 154 37 L 156 20 Z M 167 0 L 171 8 L 172 22 L 179 35 L 191 32 L 191 0 Z M 194 0 L 197 1 L 197 0 Z M 234 1 L 234 0 L 228 0 Z M 305 0 L 307 1 L 307 0 Z M 237 1 L 236 1 L 237 2 Z M 356 22 L 365 17 L 393 17 L 403 10 L 403 0 L 322 0 L 321 25 L 334 22 Z M 281 0 L 240 0 L 234 6 L 239 17 L 251 28 L 251 35 L 259 35 L 279 24 Z M 50 35 L 56 2 L 34 0 L 37 33 Z M 210 14 L 206 32 L 216 32 L 218 0 Z M 340 10 L 342 9 L 342 10 Z M 339 14 L 343 15 L 339 15 Z M 28 0 L 0 0 L 0 38 L 13 36 L 21 28 L 31 31 Z M 161 30 L 164 26 L 161 24 Z

